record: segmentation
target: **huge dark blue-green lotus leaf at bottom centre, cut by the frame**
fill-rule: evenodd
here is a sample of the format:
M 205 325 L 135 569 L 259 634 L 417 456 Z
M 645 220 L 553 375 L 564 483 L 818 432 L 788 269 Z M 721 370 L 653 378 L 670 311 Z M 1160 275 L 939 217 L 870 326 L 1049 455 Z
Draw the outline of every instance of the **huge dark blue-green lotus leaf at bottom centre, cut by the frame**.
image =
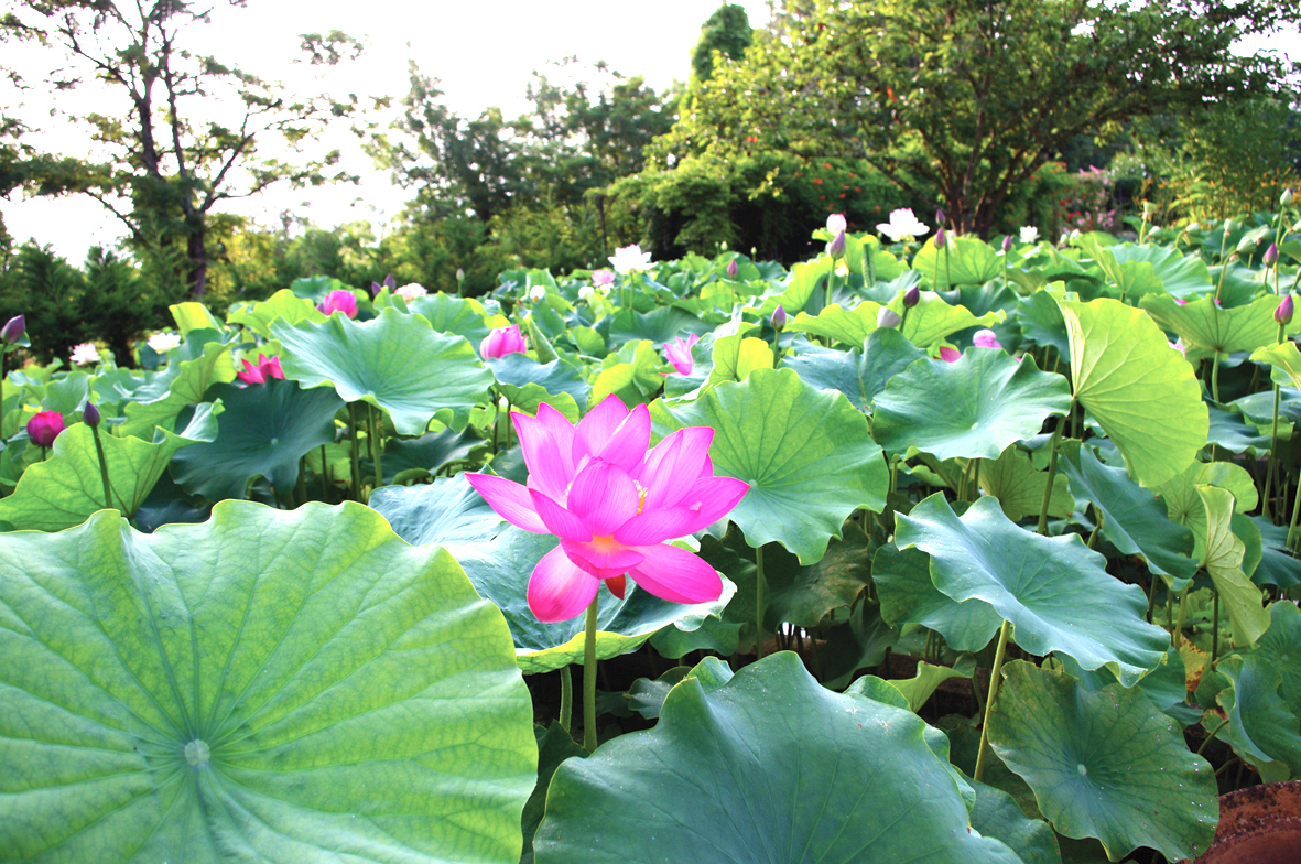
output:
M 824 688 L 790 652 L 717 690 L 687 678 L 654 729 L 557 769 L 533 854 L 537 864 L 1019 861 L 969 830 L 925 729 L 907 710 Z

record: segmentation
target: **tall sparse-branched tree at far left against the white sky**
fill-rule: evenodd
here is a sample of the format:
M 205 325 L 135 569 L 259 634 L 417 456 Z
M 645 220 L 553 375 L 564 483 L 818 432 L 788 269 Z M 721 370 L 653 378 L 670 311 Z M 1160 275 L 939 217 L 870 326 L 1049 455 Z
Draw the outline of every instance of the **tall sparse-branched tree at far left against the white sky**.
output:
M 39 40 L 56 52 L 64 64 L 48 75 L 56 92 L 94 78 L 122 100 L 69 116 L 91 130 L 101 156 L 21 160 L 10 165 L 21 185 L 40 195 L 90 195 L 127 228 L 138 251 L 183 246 L 183 278 L 195 298 L 207 285 L 215 211 L 280 181 L 347 178 L 336 168 L 337 151 L 299 164 L 267 151 L 273 142 L 294 150 L 314 141 L 324 122 L 356 105 L 355 95 L 290 98 L 273 82 L 189 49 L 190 29 L 206 22 L 208 10 L 185 0 L 22 0 L 0 18 L 0 36 Z M 302 47 L 315 65 L 356 53 L 338 31 L 303 35 Z

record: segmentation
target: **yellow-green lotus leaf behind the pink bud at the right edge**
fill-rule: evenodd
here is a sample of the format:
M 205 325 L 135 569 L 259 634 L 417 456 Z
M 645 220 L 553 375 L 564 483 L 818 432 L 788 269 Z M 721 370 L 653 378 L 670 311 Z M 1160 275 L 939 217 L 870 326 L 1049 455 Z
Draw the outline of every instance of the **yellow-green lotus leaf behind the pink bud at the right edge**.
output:
M 1163 331 L 1177 333 L 1189 347 L 1216 351 L 1254 351 L 1274 345 L 1279 338 L 1279 324 L 1274 310 L 1283 298 L 1265 294 L 1248 306 L 1220 308 L 1213 297 L 1203 297 L 1184 306 L 1174 297 L 1145 297 L 1142 307 Z M 1301 321 L 1289 324 L 1288 333 L 1301 332 Z

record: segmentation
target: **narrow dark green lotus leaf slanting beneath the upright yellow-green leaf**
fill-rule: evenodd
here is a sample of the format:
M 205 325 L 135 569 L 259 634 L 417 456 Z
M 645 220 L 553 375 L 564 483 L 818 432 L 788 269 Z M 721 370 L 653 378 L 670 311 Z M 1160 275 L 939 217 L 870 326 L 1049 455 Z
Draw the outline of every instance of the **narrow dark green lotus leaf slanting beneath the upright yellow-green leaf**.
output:
M 1183 589 L 1197 573 L 1193 533 L 1171 522 L 1163 505 L 1129 479 L 1124 468 L 1111 468 L 1086 446 L 1068 441 L 1062 448 L 1058 471 L 1071 479 L 1076 497 L 1088 498 L 1102 514 L 1102 536 L 1121 554 L 1140 556 L 1151 573 L 1166 576 L 1168 586 Z

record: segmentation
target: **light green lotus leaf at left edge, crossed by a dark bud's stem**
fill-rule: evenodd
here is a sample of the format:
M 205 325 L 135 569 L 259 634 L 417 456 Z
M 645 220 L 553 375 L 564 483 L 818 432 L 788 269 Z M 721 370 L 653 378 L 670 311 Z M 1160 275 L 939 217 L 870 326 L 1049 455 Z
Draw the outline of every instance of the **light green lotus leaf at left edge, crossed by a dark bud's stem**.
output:
M 216 425 L 212 407 L 204 405 L 181 435 L 159 428 L 152 442 L 118 437 L 100 428 L 113 506 L 126 515 L 134 514 L 167 471 L 172 455 L 196 441 L 211 441 Z M 27 467 L 13 494 L 0 498 L 0 520 L 16 528 L 62 531 L 103 509 L 104 480 L 95 439 L 88 425 L 77 423 L 55 439 L 48 459 Z

